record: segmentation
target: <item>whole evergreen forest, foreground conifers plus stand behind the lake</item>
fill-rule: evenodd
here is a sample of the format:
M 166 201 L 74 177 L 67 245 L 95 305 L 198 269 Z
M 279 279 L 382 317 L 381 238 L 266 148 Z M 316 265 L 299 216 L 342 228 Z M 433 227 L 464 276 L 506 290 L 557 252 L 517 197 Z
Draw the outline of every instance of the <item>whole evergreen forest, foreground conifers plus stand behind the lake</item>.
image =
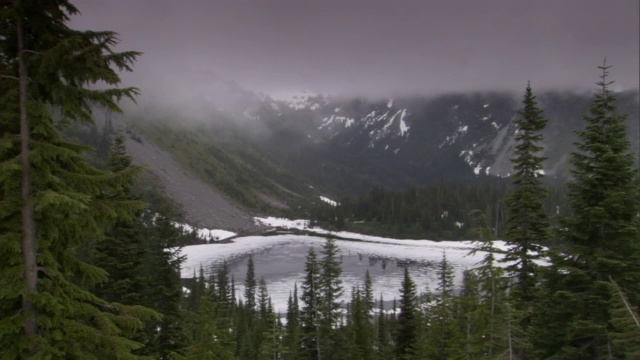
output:
M 443 254 L 434 291 L 405 269 L 397 297 L 377 298 L 368 273 L 344 286 L 329 238 L 281 313 L 252 258 L 243 294 L 227 264 L 181 279 L 181 246 L 198 240 L 149 194 L 124 134 L 97 152 L 71 140 L 139 93 L 119 74 L 141 54 L 70 28 L 78 12 L 0 4 L 0 359 L 640 359 L 640 178 L 606 61 L 567 184 L 541 171 L 558 120 L 527 84 L 511 177 L 309 209 L 341 229 L 473 237 L 483 259 L 462 279 Z

